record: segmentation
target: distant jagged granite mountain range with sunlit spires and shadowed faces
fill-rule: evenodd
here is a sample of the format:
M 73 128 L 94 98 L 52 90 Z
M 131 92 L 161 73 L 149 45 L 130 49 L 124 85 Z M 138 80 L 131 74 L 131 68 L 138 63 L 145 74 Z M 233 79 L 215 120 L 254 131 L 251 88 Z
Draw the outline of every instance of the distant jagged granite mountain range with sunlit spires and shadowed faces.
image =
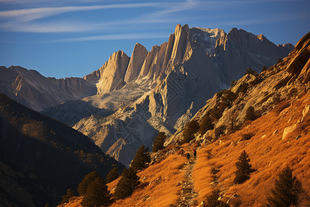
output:
M 152 147 L 158 131 L 174 134 L 245 69 L 260 72 L 293 48 L 242 29 L 226 33 L 177 25 L 161 46 L 147 51 L 136 43 L 131 57 L 115 52 L 83 79 L 1 67 L 1 92 L 83 132 L 129 165 L 142 144 Z

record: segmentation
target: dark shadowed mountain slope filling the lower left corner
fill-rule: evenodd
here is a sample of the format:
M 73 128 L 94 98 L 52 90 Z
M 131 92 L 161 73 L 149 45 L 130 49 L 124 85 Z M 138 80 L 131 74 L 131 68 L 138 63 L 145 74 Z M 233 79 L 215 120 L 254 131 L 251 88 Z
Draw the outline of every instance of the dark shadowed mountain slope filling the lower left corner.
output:
M 87 173 L 115 166 L 81 132 L 0 95 L 1 205 L 57 204 Z

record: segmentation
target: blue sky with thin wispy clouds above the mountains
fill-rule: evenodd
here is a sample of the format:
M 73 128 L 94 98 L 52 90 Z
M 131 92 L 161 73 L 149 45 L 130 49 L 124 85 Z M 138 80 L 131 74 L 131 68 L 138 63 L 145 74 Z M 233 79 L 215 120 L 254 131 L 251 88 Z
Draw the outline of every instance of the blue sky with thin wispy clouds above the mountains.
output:
M 0 65 L 46 77 L 83 77 L 113 52 L 151 50 L 190 28 L 242 28 L 273 43 L 293 43 L 310 30 L 309 0 L 0 0 Z

